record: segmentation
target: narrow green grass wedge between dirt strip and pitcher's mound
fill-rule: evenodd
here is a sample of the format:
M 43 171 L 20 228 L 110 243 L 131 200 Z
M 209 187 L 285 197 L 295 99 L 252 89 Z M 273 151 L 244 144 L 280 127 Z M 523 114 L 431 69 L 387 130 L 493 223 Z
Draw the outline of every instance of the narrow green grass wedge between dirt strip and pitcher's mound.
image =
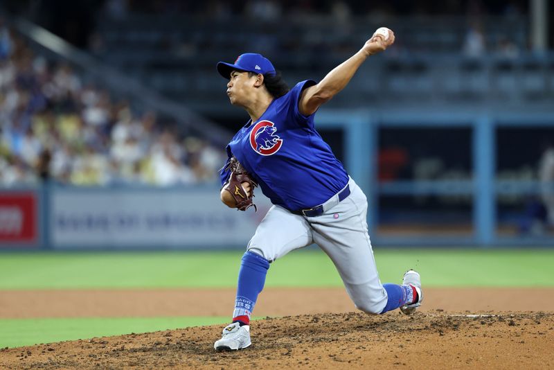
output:
M 229 317 L 0 319 L 0 348 L 226 324 L 228 321 Z

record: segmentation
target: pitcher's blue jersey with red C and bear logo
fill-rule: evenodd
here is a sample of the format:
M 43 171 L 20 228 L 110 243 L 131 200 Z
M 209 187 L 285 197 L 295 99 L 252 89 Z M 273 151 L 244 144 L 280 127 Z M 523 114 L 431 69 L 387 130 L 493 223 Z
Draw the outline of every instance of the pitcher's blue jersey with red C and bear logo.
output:
M 271 101 L 258 121 L 244 125 L 226 147 L 271 203 L 291 211 L 323 204 L 348 184 L 343 165 L 315 130 L 314 114 L 298 111 L 303 89 L 312 85 L 312 80 L 299 82 Z M 224 184 L 229 170 L 220 175 Z

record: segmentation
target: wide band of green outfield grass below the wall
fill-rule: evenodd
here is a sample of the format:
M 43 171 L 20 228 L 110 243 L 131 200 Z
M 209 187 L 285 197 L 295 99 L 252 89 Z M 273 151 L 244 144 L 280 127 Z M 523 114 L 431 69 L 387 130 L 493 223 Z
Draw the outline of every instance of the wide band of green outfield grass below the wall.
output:
M 234 288 L 242 252 L 1 253 L 0 290 Z M 554 250 L 377 249 L 382 282 L 410 267 L 425 286 L 554 286 Z M 342 286 L 319 250 L 271 264 L 267 287 Z

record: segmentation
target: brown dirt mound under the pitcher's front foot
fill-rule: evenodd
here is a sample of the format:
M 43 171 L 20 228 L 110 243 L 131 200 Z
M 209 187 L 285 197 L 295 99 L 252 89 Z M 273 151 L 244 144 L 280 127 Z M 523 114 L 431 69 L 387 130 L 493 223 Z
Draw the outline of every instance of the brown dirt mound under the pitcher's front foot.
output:
M 216 353 L 222 326 L 0 350 L 8 369 L 491 368 L 554 366 L 552 312 L 361 312 L 254 321 L 252 346 Z

